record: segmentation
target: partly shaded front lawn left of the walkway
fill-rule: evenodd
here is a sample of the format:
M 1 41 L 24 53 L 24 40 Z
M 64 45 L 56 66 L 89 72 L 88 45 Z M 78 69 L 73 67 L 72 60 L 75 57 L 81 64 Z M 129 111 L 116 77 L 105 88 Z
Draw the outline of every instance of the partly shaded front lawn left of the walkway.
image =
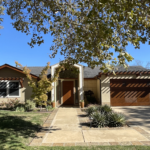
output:
M 26 149 L 48 115 L 0 110 L 0 150 Z

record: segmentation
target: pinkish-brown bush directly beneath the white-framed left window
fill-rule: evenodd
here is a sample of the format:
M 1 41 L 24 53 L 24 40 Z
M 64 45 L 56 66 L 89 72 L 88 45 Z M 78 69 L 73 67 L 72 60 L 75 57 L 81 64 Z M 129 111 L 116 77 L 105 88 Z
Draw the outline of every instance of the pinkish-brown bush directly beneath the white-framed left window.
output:
M 19 105 L 19 100 L 17 98 L 13 99 L 8 99 L 8 102 L 4 103 L 4 106 L 7 109 L 15 109 Z

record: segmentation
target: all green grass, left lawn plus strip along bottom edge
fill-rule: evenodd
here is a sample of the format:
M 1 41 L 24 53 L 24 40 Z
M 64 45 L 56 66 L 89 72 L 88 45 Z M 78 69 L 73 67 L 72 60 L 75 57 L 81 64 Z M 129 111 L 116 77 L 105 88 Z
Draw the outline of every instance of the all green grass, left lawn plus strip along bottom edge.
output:
M 0 150 L 150 150 L 150 146 L 27 146 L 48 115 L 0 110 Z

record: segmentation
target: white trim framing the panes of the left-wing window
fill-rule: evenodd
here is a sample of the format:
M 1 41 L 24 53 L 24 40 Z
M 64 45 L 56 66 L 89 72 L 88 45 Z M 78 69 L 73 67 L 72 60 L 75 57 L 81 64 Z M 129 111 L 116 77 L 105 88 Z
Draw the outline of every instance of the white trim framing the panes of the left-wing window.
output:
M 0 80 L 0 82 L 7 82 L 6 84 L 6 96 L 0 96 L 0 98 L 19 98 L 21 97 L 21 85 L 20 85 L 20 82 L 19 80 Z M 9 95 L 9 82 L 18 82 L 19 83 L 19 96 L 10 96 Z

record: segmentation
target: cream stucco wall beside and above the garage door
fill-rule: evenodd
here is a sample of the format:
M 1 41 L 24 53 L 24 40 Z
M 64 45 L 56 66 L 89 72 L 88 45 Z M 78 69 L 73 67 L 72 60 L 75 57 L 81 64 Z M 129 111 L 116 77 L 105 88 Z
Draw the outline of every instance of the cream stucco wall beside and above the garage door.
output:
M 110 105 L 110 79 L 150 79 L 150 76 L 142 75 L 136 77 L 136 75 L 110 75 L 106 77 L 105 75 L 101 76 L 101 102 L 102 105 Z

